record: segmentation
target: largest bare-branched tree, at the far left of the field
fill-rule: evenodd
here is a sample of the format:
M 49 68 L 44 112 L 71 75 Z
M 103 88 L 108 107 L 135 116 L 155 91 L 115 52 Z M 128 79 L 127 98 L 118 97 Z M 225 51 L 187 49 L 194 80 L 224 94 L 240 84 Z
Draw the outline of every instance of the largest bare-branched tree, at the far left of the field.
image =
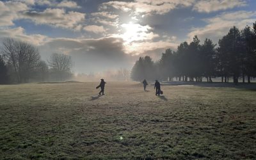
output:
M 17 81 L 19 83 L 27 82 L 31 71 L 40 61 L 38 49 L 26 42 L 6 38 L 3 40 L 1 51 L 8 63 L 12 65 Z

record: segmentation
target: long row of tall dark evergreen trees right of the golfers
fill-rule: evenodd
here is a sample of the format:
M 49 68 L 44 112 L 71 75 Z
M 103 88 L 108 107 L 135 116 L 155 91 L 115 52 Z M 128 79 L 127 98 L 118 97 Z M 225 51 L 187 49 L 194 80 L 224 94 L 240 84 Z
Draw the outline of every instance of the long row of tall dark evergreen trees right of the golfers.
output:
M 192 42 L 181 43 L 177 51 L 166 49 L 156 63 L 149 56 L 140 57 L 131 71 L 134 81 L 176 78 L 202 82 L 204 77 L 207 82 L 212 82 L 213 77 L 228 82 L 232 77 L 234 83 L 239 78 L 250 83 L 251 77 L 256 77 L 256 22 L 253 28 L 246 26 L 241 31 L 236 26 L 230 28 L 218 46 L 209 38 L 200 44 L 198 36 L 194 36 Z

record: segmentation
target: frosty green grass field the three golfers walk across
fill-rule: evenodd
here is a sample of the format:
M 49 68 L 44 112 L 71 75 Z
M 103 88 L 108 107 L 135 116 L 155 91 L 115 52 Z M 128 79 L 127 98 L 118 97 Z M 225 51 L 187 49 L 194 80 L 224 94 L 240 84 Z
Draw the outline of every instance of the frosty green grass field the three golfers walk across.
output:
M 97 84 L 1 85 L 1 159 L 256 159 L 255 90 Z

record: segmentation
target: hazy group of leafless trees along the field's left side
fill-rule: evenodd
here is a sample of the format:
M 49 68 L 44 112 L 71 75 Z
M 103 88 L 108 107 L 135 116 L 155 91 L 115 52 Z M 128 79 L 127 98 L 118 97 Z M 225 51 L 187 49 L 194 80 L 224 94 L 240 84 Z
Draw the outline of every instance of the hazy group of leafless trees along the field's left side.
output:
M 72 77 L 72 59 L 53 53 L 43 61 L 38 48 L 12 38 L 5 38 L 0 47 L 0 84 L 44 81 L 65 81 Z

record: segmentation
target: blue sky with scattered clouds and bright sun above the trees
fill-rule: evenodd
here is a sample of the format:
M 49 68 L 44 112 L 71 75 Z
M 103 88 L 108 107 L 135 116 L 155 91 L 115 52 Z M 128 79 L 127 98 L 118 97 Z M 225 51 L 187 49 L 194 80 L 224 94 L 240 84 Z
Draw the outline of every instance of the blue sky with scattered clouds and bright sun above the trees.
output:
M 0 41 L 33 44 L 45 61 L 68 54 L 84 74 L 131 69 L 140 56 L 156 61 L 195 35 L 218 44 L 232 26 L 255 21 L 255 0 L 0 1 Z

